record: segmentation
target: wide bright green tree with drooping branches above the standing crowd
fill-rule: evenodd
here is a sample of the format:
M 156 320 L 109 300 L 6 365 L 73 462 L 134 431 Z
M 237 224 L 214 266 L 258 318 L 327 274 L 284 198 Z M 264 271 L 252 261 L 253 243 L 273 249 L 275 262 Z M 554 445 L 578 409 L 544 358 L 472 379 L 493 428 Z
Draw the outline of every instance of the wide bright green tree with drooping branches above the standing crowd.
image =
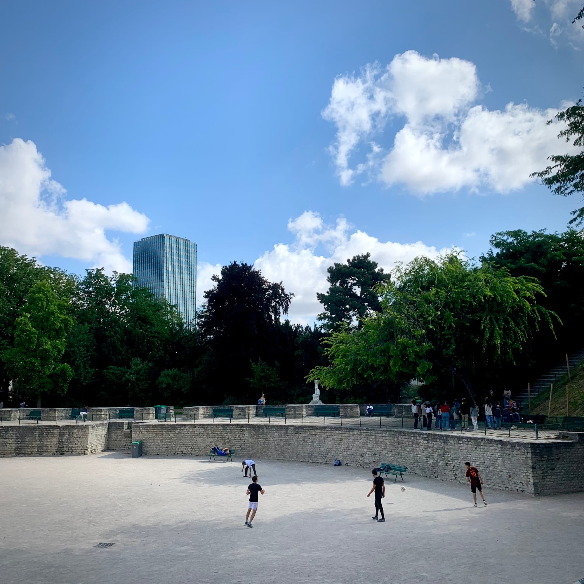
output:
M 415 378 L 474 397 L 474 385 L 513 362 L 542 321 L 551 326 L 537 304 L 541 294 L 537 280 L 489 263 L 474 266 L 457 254 L 416 258 L 392 271 L 380 313 L 358 331 L 332 335 L 331 366 L 309 378 L 346 389 Z

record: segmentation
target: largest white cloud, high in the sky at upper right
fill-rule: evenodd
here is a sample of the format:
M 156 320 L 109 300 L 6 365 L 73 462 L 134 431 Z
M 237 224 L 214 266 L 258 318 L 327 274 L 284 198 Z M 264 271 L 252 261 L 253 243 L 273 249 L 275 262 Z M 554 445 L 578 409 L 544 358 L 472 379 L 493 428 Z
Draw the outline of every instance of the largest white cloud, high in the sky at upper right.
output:
M 416 194 L 522 188 L 548 155 L 565 149 L 558 128 L 545 123 L 558 109 L 508 103 L 488 110 L 475 104 L 480 92 L 470 61 L 416 51 L 396 55 L 384 70 L 367 65 L 359 77 L 335 79 L 322 114 L 337 127 L 331 149 L 340 183 L 369 172 L 386 186 L 403 185 Z M 391 147 L 381 152 L 374 142 L 367 162 L 351 168 L 360 142 L 382 134 L 390 115 L 404 120 Z

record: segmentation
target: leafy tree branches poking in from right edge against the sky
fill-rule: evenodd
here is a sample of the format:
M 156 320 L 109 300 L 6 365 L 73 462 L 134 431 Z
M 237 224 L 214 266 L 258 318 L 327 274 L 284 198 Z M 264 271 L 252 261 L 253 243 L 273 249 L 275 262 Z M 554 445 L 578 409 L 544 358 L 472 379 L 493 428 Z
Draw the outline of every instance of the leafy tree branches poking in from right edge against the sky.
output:
M 583 11 L 584 8 L 580 10 L 575 20 L 584 18 Z M 582 105 L 582 100 L 579 99 L 573 106 L 559 112 L 555 120 L 566 124 L 566 128 L 558 134 L 558 138 L 563 138 L 566 142 L 570 142 L 573 138 L 572 145 L 582 150 L 579 154 L 551 155 L 548 160 L 553 164 L 543 171 L 534 172 L 531 176 L 540 179 L 552 193 L 562 197 L 582 194 L 584 193 L 584 105 Z M 548 124 L 551 123 L 553 120 L 548 121 Z M 584 207 L 573 210 L 572 215 L 569 225 L 579 226 L 584 223 Z

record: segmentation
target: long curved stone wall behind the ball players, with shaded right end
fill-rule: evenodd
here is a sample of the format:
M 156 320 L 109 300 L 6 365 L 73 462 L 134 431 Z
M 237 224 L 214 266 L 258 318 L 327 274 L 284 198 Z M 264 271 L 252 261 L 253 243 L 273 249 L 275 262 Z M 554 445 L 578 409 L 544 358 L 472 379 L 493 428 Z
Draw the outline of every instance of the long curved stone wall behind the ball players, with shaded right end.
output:
M 266 458 L 331 464 L 340 458 L 345 464 L 371 468 L 396 463 L 407 466 L 412 474 L 458 482 L 466 482 L 464 463 L 469 460 L 479 468 L 487 486 L 529 495 L 578 492 L 584 485 L 584 449 L 574 442 L 536 443 L 415 430 L 224 423 L 139 424 L 134 426 L 133 438 L 142 440 L 144 454 L 203 456 L 210 447 L 221 444 L 237 449 L 238 457 L 256 461 Z M 261 472 L 260 464 L 258 468 Z

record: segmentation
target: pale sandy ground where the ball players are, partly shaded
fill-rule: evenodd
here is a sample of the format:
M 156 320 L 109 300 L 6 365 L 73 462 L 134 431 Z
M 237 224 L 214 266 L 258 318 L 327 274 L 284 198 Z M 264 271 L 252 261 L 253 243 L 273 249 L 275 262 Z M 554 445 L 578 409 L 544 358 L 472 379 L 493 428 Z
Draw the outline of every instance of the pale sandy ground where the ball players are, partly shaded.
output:
M 463 461 L 464 462 L 464 461 Z M 190 457 L 0 458 L 0 582 L 572 584 L 584 493 L 529 498 L 406 476 L 377 523 L 369 470 Z M 480 470 L 480 469 L 479 469 Z M 109 548 L 96 544 L 114 543 Z

